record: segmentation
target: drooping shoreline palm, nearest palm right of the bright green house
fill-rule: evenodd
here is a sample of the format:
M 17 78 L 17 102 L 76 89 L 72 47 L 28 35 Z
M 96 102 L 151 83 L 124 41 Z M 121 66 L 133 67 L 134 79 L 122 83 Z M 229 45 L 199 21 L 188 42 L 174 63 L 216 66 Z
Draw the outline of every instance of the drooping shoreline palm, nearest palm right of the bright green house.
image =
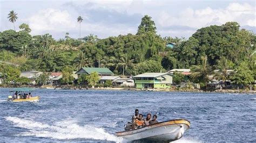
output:
M 203 56 L 201 59 L 203 61 L 203 65 L 192 66 L 193 72 L 191 74 L 191 77 L 193 79 L 204 82 L 207 89 L 207 82 L 209 81 L 208 76 L 212 73 L 212 69 L 207 63 L 207 56 Z

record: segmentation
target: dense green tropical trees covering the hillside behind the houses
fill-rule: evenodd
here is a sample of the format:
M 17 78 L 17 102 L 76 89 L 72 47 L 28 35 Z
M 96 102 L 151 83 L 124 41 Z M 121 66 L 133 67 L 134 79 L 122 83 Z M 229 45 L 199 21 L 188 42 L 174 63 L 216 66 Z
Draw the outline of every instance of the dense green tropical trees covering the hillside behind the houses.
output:
M 17 13 L 11 11 L 8 18 L 14 23 Z M 77 22 L 82 23 L 83 18 L 79 16 Z M 192 80 L 205 85 L 207 76 L 214 69 L 220 71 L 215 75 L 218 79 L 226 81 L 229 78 L 245 86 L 251 85 L 256 77 L 256 36 L 251 31 L 240 29 L 237 22 L 200 28 L 188 39 L 161 37 L 150 16 L 142 18 L 136 34 L 105 39 L 98 39 L 93 34 L 73 39 L 67 32 L 64 38 L 56 40 L 49 33 L 29 34 L 31 29 L 25 23 L 19 28 L 21 31 L 0 32 L 0 66 L 3 67 L 0 72 L 6 76 L 6 82 L 18 78 L 19 73 L 15 72 L 13 77 L 6 74 L 14 70 L 11 67 L 19 72 L 39 70 L 64 73 L 71 73 L 72 68 L 107 67 L 118 75 L 191 68 Z M 176 45 L 166 47 L 170 42 Z M 229 77 L 227 69 L 234 69 L 237 73 Z M 68 84 L 70 80 L 71 77 L 66 75 L 62 82 Z M 85 80 L 86 77 L 80 77 L 78 82 Z M 177 82 L 180 79 L 177 78 Z

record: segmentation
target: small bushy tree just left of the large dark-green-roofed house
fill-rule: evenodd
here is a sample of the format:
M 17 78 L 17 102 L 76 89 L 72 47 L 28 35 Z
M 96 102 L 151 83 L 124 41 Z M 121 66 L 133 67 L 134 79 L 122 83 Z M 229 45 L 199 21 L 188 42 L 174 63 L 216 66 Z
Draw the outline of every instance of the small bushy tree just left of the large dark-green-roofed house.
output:
M 61 78 L 61 82 L 64 84 L 69 84 L 72 83 L 74 80 L 73 77 L 73 68 L 71 66 L 66 66 L 63 70 L 62 70 L 62 78 Z

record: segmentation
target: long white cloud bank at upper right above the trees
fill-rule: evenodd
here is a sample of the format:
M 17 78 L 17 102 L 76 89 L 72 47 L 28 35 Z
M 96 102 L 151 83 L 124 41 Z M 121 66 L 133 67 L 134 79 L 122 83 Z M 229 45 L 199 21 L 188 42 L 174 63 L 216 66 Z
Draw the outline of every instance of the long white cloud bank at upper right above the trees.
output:
M 231 3 L 225 9 L 205 9 L 194 10 L 191 8 L 185 9 L 178 15 L 173 16 L 166 11 L 162 11 L 157 19 L 157 24 L 160 26 L 190 26 L 200 28 L 212 24 L 225 24 L 226 22 L 238 22 L 240 25 L 256 26 L 255 24 L 255 7 L 244 3 Z

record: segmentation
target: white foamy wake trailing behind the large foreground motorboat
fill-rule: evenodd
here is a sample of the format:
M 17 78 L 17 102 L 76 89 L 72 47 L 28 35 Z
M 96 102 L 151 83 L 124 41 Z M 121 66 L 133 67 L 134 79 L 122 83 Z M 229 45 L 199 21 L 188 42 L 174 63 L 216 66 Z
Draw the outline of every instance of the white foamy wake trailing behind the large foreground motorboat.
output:
M 18 117 L 5 117 L 5 119 L 11 121 L 17 127 L 29 130 L 28 132 L 19 134 L 22 136 L 35 136 L 53 139 L 80 138 L 122 142 L 122 138 L 117 138 L 115 135 L 107 133 L 103 128 L 96 128 L 89 125 L 79 126 L 75 123 L 70 123 L 69 121 L 62 121 L 55 125 L 48 125 Z

